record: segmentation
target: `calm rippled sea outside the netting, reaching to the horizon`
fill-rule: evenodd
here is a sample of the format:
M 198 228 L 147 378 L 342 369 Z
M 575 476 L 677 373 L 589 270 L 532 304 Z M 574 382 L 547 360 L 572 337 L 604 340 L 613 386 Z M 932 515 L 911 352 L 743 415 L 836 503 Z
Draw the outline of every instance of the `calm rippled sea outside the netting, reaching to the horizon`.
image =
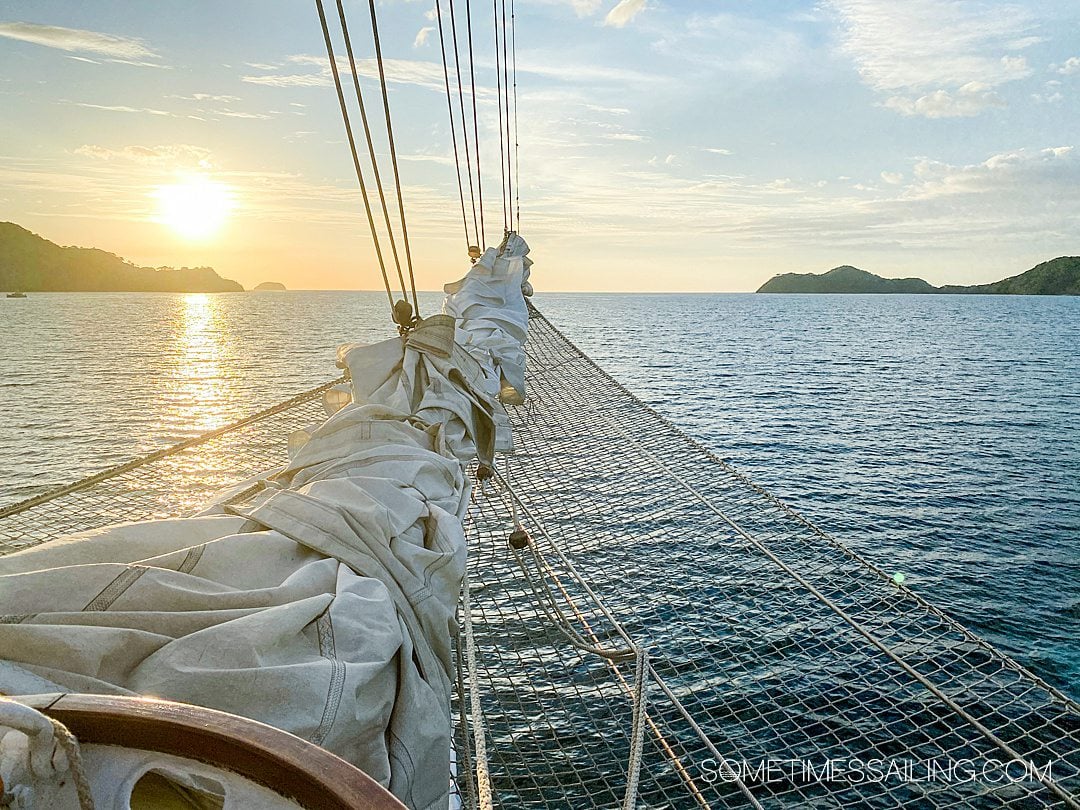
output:
M 688 433 L 1080 697 L 1080 298 L 537 303 Z M 392 334 L 384 309 L 374 293 L 0 300 L 0 504 L 329 379 L 338 343 Z

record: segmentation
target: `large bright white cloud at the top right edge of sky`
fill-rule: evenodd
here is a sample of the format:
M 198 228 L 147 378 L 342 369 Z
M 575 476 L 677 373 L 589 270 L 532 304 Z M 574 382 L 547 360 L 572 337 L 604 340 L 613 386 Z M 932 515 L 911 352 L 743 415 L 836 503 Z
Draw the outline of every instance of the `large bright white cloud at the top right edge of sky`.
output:
M 863 82 L 906 116 L 974 116 L 1004 104 L 994 89 L 1031 75 L 1015 52 L 1028 11 L 975 0 L 828 0 L 842 24 L 841 51 Z

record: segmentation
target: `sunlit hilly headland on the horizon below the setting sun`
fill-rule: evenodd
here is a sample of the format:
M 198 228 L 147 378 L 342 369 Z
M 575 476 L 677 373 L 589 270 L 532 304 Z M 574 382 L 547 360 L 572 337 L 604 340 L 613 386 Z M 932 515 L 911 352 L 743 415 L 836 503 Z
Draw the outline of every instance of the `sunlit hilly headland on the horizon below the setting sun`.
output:
M 136 267 L 93 247 L 60 247 L 0 222 L 0 291 L 24 293 L 242 293 L 210 267 Z

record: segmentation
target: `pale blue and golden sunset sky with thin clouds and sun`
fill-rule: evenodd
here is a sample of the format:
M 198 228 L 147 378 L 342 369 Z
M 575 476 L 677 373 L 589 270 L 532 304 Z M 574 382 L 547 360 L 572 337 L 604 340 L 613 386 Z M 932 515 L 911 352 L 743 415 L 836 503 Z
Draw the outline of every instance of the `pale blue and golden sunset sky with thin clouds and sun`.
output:
M 345 8 L 391 184 L 367 2 Z M 469 267 L 433 9 L 377 4 L 423 289 Z M 492 9 L 472 11 L 497 243 Z M 538 291 L 839 265 L 969 284 L 1080 255 L 1075 0 L 514 0 L 514 22 Z M 0 0 L 0 220 L 247 287 L 381 288 L 329 64 L 314 2 Z M 170 213 L 177 190 L 194 213 Z

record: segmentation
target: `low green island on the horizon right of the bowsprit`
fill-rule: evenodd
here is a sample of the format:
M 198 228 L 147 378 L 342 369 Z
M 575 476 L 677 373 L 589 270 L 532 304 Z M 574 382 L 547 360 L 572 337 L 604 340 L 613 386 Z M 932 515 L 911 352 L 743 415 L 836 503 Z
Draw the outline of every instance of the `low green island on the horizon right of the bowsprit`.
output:
M 936 295 L 1080 295 L 1080 256 L 1062 256 L 991 284 L 935 287 L 922 279 L 882 279 L 845 265 L 827 273 L 783 273 L 758 293 L 916 293 Z

